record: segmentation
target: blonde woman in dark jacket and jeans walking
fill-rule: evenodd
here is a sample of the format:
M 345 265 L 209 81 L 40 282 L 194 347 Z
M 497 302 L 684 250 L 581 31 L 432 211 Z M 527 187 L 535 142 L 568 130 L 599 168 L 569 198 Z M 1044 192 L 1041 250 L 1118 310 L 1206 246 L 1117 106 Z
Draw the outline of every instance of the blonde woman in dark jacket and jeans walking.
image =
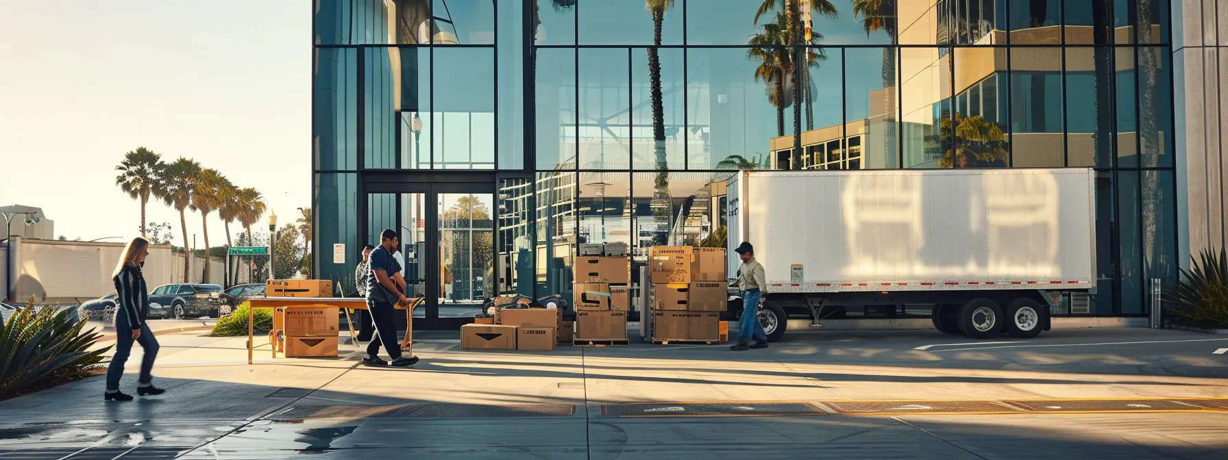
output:
M 107 393 L 103 399 L 107 401 L 131 401 L 131 395 L 119 391 L 119 378 L 124 375 L 124 363 L 133 353 L 133 342 L 140 342 L 145 350 L 141 358 L 141 374 L 136 379 L 136 394 L 161 395 L 163 389 L 150 383 L 154 369 L 154 359 L 157 358 L 157 340 L 150 331 L 145 320 L 149 318 L 149 291 L 145 287 L 145 275 L 141 267 L 145 258 L 150 255 L 150 240 L 142 237 L 133 238 L 124 248 L 124 256 L 115 266 L 112 280 L 115 282 L 115 355 L 111 357 L 111 366 L 107 368 Z

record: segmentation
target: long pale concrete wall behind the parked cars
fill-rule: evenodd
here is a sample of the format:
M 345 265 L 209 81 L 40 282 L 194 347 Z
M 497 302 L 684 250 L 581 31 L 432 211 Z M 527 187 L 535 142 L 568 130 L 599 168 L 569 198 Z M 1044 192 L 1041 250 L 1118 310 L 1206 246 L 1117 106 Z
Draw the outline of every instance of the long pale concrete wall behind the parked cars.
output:
M 15 287 L 6 296 L 16 302 L 25 302 L 31 296 L 38 302 L 60 303 L 81 302 L 102 297 L 114 291 L 111 275 L 123 256 L 124 244 L 120 243 L 81 243 L 42 239 L 14 238 L 16 244 L 15 277 L 9 277 L 9 251 L 0 250 L 0 266 L 4 277 L 10 280 L 5 288 Z M 150 248 L 145 260 L 145 282 L 150 291 L 167 283 L 183 282 L 184 254 L 172 254 L 168 245 Z M 225 265 L 221 260 L 210 263 L 209 282 L 225 285 Z M 189 282 L 200 282 L 204 259 L 193 258 Z M 242 274 L 241 274 L 242 275 Z M 241 276 L 239 282 L 247 282 Z

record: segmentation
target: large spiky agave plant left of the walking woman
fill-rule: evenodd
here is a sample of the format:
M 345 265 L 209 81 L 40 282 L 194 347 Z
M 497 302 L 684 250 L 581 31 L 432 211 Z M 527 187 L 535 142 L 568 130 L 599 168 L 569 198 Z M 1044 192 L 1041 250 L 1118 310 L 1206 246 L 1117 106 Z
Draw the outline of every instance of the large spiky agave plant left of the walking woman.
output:
M 101 335 L 85 325 L 52 308 L 22 308 L 0 324 L 0 396 L 96 370 L 111 347 L 90 351 Z

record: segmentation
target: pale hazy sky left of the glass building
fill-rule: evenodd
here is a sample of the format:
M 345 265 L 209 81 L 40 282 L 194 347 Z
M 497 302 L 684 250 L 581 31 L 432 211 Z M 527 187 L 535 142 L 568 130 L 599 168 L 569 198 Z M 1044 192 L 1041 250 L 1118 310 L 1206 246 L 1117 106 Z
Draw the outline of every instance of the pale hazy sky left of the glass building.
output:
M 0 0 L 0 205 L 42 207 L 68 239 L 138 236 L 115 166 L 144 146 L 293 221 L 311 205 L 311 5 Z M 200 215 L 187 218 L 204 247 Z M 151 202 L 147 220 L 183 244 L 173 209 Z M 209 237 L 226 243 L 216 213 Z

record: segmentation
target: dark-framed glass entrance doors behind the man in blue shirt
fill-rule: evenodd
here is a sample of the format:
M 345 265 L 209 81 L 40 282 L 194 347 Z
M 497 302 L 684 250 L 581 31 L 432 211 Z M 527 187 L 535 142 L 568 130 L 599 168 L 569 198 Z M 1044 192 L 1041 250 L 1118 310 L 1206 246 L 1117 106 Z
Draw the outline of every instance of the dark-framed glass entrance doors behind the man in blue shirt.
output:
M 414 329 L 459 329 L 497 289 L 492 186 L 415 188 L 426 191 L 367 194 L 366 234 L 375 245 L 386 228 L 400 236 L 394 258 L 406 296 L 424 298 L 414 309 Z

